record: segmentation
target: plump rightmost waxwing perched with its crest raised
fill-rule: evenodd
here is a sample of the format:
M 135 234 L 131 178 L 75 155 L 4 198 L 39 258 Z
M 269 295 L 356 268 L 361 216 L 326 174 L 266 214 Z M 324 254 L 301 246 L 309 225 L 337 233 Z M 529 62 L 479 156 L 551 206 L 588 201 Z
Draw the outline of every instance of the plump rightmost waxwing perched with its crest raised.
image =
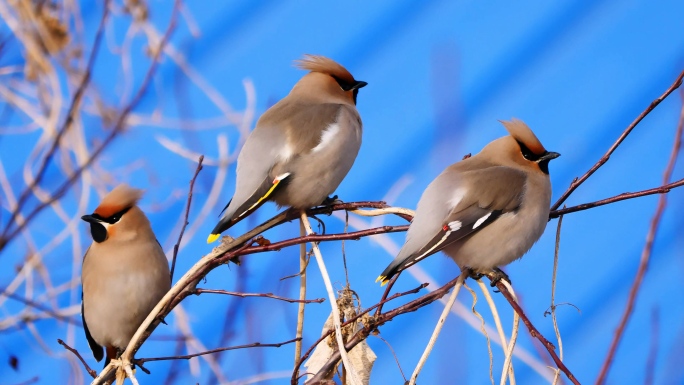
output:
M 498 266 L 522 257 L 549 219 L 549 161 L 522 121 L 502 121 L 509 136 L 447 167 L 425 189 L 406 242 L 380 274 L 383 285 L 399 271 L 438 251 L 474 274 L 505 274 Z M 376 282 L 377 282 L 376 281 Z

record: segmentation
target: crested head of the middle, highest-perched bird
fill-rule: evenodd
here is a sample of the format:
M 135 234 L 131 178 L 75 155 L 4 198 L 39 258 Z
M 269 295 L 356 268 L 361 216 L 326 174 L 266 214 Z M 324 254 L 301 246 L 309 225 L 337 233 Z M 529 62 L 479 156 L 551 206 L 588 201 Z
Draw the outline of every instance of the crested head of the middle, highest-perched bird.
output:
M 293 92 L 301 94 L 317 95 L 320 90 L 316 88 L 322 88 L 324 93 L 342 97 L 356 105 L 359 89 L 368 84 L 354 79 L 346 68 L 325 56 L 304 55 L 302 59 L 295 61 L 295 66 L 310 71 L 293 88 Z

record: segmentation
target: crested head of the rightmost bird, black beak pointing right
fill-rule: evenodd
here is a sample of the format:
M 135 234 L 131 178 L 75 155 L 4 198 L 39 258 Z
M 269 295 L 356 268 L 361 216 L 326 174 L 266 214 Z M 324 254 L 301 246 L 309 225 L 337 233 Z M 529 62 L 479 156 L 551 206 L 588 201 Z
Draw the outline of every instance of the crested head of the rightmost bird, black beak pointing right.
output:
M 488 144 L 482 153 L 487 154 L 497 164 L 518 166 L 530 170 L 549 173 L 549 161 L 560 156 L 547 151 L 534 132 L 519 119 L 501 121 L 510 136 L 499 138 Z

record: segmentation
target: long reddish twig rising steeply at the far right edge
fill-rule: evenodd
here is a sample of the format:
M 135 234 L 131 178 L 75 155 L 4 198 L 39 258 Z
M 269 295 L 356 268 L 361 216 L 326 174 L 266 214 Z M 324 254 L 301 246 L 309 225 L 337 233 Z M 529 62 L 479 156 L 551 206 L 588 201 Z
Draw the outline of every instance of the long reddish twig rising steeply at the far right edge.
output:
M 679 123 L 677 124 L 677 130 L 675 132 L 672 150 L 670 151 L 670 159 L 668 160 L 667 166 L 665 167 L 665 171 L 663 172 L 663 184 L 667 184 L 670 181 L 670 178 L 672 178 L 672 172 L 674 170 L 675 164 L 677 163 L 677 158 L 679 157 L 679 150 L 681 149 L 682 145 L 682 131 L 684 131 L 684 105 L 682 106 L 679 117 Z M 646 275 L 649 261 L 651 260 L 651 253 L 653 251 L 653 244 L 655 243 L 656 234 L 658 233 L 660 219 L 663 216 L 663 212 L 665 211 L 666 206 L 667 195 L 661 195 L 658 198 L 658 206 L 656 207 L 655 213 L 651 218 L 651 225 L 648 229 L 648 234 L 646 235 L 646 243 L 644 244 L 644 248 L 641 251 L 641 260 L 639 261 L 639 268 L 637 269 L 636 276 L 634 277 L 632 287 L 629 290 L 629 297 L 627 298 L 627 303 L 625 304 L 625 310 L 623 311 L 622 317 L 620 318 L 620 323 L 618 324 L 618 327 L 615 330 L 613 341 L 610 344 L 610 348 L 608 349 L 608 354 L 606 355 L 606 359 L 603 362 L 601 371 L 599 372 L 599 375 L 596 378 L 597 385 L 602 385 L 603 383 L 605 383 L 606 378 L 608 377 L 608 371 L 610 370 L 610 366 L 613 363 L 613 358 L 615 357 L 615 353 L 617 352 L 618 345 L 622 340 L 622 336 L 625 332 L 627 323 L 629 322 L 629 319 L 632 316 L 634 304 L 636 303 L 636 298 L 639 294 L 639 289 L 641 289 L 641 282 L 643 281 L 644 276 Z

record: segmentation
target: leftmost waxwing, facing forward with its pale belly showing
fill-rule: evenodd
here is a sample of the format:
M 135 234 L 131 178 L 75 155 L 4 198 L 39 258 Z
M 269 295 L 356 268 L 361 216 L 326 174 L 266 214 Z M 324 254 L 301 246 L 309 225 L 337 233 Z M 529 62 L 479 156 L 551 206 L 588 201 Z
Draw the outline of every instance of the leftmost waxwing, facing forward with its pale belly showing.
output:
M 164 251 L 136 206 L 141 196 L 141 190 L 119 185 L 81 217 L 94 241 L 83 257 L 81 316 L 97 361 L 106 349 L 105 366 L 171 287 Z

